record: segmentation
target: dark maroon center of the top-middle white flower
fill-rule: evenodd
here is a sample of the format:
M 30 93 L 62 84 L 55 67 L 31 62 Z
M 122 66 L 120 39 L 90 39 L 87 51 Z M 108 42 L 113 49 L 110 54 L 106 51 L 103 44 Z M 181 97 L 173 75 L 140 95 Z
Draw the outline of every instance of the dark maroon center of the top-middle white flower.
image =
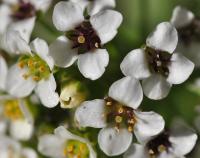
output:
M 78 49 L 78 54 L 101 48 L 101 40 L 89 21 L 84 21 L 74 30 L 68 31 L 66 36 L 73 42 L 72 48 Z

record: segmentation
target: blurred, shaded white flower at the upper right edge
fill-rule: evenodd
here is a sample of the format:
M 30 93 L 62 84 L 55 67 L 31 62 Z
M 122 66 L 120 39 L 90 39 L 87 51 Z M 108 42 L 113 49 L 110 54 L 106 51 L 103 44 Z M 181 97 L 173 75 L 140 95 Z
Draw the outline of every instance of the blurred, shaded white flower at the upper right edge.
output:
M 177 51 L 183 53 L 196 67 L 200 66 L 200 20 L 190 10 L 181 6 L 175 7 L 171 23 L 177 28 L 179 43 Z

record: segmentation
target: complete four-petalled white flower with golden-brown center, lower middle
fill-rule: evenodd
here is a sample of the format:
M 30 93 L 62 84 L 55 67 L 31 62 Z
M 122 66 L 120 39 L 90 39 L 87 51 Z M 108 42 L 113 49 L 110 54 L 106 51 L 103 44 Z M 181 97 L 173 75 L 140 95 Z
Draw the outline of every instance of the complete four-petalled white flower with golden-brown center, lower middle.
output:
M 86 101 L 75 112 L 81 127 L 102 128 L 98 143 L 108 156 L 120 155 L 132 143 L 132 132 L 144 143 L 164 128 L 163 118 L 155 112 L 136 110 L 143 99 L 142 88 L 134 78 L 114 82 L 106 99 Z

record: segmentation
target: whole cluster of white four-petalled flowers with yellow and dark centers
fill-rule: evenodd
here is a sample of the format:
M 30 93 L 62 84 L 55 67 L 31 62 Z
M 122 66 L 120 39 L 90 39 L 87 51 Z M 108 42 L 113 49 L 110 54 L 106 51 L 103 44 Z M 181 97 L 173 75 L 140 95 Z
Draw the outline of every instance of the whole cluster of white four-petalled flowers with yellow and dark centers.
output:
M 165 117 L 146 112 L 142 104 L 144 96 L 155 103 L 167 98 L 172 85 L 184 83 L 199 66 L 200 19 L 176 7 L 170 22 L 158 24 L 141 48 L 126 54 L 117 68 L 124 76 L 107 88 L 101 80 L 112 78 L 103 76 L 111 56 L 107 45 L 118 38 L 123 21 L 115 0 L 57 2 L 50 30 L 59 35 L 47 42 L 35 38 L 33 29 L 51 4 L 0 3 L 0 158 L 97 158 L 98 151 L 124 158 L 183 158 L 190 153 L 195 131 L 182 121 L 168 128 Z M 96 82 L 105 90 L 100 99 L 91 95 L 99 91 L 91 88 Z M 38 152 L 20 143 L 31 140 Z

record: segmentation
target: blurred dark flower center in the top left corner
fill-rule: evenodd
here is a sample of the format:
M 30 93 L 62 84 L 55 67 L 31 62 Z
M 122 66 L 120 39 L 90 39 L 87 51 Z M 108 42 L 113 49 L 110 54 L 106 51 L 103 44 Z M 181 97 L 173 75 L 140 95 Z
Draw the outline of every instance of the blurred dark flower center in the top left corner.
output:
M 36 15 L 36 9 L 30 2 L 20 0 L 19 4 L 13 7 L 12 17 L 15 20 L 24 20 Z

